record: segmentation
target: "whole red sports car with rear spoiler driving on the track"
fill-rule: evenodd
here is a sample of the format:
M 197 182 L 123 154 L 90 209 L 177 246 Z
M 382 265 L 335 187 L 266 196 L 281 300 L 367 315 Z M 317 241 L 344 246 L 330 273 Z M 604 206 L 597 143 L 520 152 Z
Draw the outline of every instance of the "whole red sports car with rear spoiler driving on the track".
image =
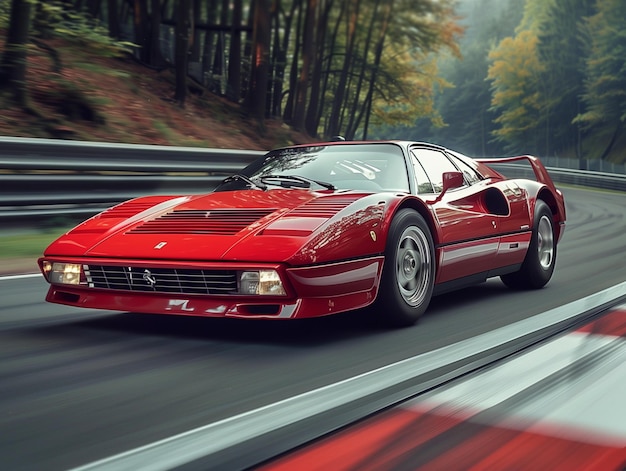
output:
M 536 181 L 487 165 L 515 160 Z M 39 265 L 53 303 L 255 319 L 372 305 L 404 326 L 433 295 L 489 277 L 541 288 L 564 225 L 563 195 L 537 158 L 325 142 L 273 150 L 208 194 L 114 206 Z

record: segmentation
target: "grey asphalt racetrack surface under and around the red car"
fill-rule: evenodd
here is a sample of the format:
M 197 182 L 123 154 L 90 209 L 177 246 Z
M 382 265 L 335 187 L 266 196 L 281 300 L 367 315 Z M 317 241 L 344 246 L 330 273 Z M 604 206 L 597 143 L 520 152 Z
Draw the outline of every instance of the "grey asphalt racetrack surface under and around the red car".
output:
M 626 281 L 626 195 L 564 190 L 545 289 L 499 280 L 435 298 L 414 327 L 358 315 L 292 322 L 88 312 L 0 281 L 4 469 L 66 469 L 511 324 Z

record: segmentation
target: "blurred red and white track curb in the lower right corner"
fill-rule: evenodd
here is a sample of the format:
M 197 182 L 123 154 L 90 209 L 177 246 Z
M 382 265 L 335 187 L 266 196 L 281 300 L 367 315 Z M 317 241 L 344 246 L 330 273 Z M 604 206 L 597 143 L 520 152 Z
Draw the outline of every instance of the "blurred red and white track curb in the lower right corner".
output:
M 260 468 L 623 470 L 626 304 Z

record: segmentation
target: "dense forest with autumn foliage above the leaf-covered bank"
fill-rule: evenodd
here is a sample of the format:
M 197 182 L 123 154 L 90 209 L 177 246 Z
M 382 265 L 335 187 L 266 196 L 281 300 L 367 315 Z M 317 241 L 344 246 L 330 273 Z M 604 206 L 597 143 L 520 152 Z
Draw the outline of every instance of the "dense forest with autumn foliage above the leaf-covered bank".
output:
M 623 0 L 4 0 L 3 106 L 55 40 L 130 55 L 312 138 L 625 160 Z

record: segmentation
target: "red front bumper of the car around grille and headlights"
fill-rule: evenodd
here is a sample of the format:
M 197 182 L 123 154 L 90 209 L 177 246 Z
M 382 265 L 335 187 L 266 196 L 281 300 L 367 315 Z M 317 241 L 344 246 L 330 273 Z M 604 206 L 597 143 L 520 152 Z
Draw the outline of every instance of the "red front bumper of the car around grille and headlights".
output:
M 47 257 L 55 260 L 57 257 Z M 67 260 L 89 264 L 103 260 Z M 120 266 L 137 266 L 125 261 Z M 157 264 L 142 262 L 148 268 Z M 162 266 L 162 264 L 158 264 Z M 196 263 L 176 262 L 181 269 L 197 268 Z M 207 268 L 207 264 L 200 264 Z M 319 317 L 358 309 L 371 304 L 379 286 L 383 257 L 369 257 L 312 267 L 287 268 L 272 265 L 283 277 L 285 296 L 206 295 L 175 292 L 100 289 L 86 285 L 51 285 L 46 301 L 69 306 L 149 314 L 201 317 L 293 319 Z M 172 263 L 167 263 L 168 267 Z M 210 264 L 211 268 L 240 269 L 240 264 Z M 251 265 L 243 265 L 247 269 Z M 254 265 L 254 267 L 258 267 Z

